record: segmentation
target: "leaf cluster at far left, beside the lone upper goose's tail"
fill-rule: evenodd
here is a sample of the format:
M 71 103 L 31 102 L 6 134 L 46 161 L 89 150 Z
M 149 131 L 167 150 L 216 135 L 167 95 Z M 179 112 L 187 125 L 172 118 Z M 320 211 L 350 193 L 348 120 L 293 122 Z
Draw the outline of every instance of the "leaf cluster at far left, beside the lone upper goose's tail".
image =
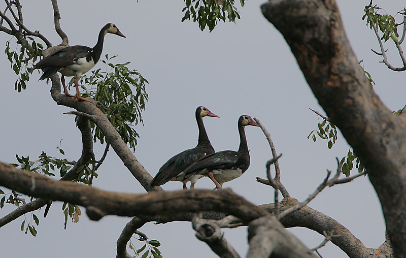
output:
M 29 80 L 30 71 L 27 68 L 29 63 L 35 62 L 42 53 L 43 46 L 36 43 L 32 37 L 25 37 L 18 42 L 20 48 L 16 46 L 14 51 L 10 49 L 10 41 L 6 42 L 5 54 L 9 59 L 11 68 L 18 75 L 14 87 L 18 92 L 26 88 L 26 82 Z

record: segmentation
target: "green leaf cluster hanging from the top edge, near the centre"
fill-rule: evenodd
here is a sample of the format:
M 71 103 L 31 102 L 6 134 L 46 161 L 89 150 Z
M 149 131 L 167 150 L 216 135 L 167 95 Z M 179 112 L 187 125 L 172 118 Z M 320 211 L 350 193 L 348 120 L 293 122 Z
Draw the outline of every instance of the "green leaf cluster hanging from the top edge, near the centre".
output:
M 203 31 L 206 26 L 212 31 L 217 25 L 217 21 L 222 20 L 234 22 L 240 19 L 240 14 L 234 6 L 234 0 L 185 0 L 186 7 L 182 12 L 185 15 L 182 21 L 193 19 L 199 24 Z M 245 0 L 240 0 L 241 7 L 244 7 Z

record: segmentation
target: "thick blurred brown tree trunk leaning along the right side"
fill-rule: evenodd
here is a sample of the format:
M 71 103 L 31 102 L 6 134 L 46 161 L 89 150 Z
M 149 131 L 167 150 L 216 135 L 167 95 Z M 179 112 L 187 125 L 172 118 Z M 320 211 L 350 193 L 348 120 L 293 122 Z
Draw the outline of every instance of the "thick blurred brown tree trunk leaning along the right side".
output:
M 406 257 L 406 123 L 373 91 L 332 0 L 271 0 L 264 16 L 282 33 L 327 115 L 366 167 L 395 257 Z

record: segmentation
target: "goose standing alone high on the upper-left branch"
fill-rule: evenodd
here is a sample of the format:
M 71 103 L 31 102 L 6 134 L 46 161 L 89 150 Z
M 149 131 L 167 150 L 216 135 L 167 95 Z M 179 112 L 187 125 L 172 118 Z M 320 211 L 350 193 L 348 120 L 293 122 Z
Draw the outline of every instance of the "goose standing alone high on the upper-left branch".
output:
M 64 76 L 75 76 L 76 98 L 81 101 L 90 100 L 83 98 L 79 92 L 79 78 L 82 74 L 86 73 L 94 67 L 97 61 L 100 59 L 101 51 L 103 51 L 103 42 L 105 35 L 112 33 L 120 37 L 125 36 L 120 32 L 116 25 L 113 23 L 106 24 L 101 28 L 98 35 L 98 40 L 93 48 L 86 46 L 72 46 L 62 48 L 59 51 L 43 58 L 41 61 L 35 64 L 31 71 L 35 69 L 41 69 L 44 73 L 40 80 L 44 80 L 59 72 L 62 74 L 60 80 L 63 86 L 63 93 L 66 96 L 74 96 L 67 92 L 65 86 Z

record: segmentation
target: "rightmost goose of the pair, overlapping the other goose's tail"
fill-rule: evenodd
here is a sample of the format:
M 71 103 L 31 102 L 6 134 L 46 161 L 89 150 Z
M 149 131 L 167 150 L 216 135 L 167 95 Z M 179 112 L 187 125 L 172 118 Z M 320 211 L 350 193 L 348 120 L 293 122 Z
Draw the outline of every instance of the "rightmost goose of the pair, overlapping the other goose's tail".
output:
M 214 189 L 221 189 L 224 182 L 240 177 L 250 166 L 250 154 L 244 131 L 246 125 L 259 126 L 251 116 L 240 116 L 238 119 L 240 133 L 238 151 L 224 150 L 200 158 L 183 171 L 184 180 L 196 175 L 208 176 L 216 185 Z

